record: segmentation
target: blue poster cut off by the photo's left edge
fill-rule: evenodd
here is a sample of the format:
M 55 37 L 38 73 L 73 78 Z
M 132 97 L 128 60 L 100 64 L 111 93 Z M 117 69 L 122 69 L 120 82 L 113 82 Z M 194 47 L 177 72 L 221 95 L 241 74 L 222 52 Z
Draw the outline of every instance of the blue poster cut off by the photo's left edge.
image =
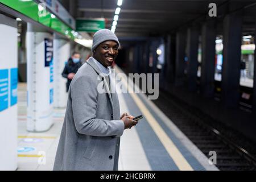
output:
M 0 111 L 8 108 L 8 69 L 0 69 Z

